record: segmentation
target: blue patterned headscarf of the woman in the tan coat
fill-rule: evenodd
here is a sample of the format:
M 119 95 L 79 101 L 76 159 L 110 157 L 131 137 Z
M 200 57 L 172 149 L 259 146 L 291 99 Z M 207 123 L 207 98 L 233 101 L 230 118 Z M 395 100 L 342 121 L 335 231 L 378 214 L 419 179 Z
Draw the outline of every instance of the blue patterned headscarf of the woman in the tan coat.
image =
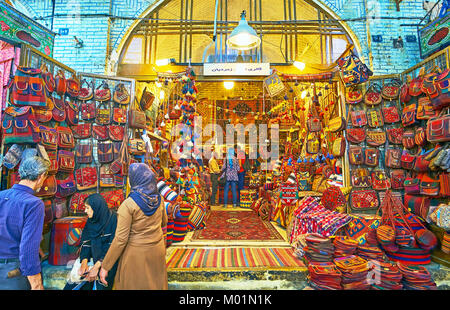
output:
M 128 177 L 131 187 L 128 197 L 136 202 L 145 215 L 153 215 L 161 205 L 155 174 L 146 164 L 134 163 L 130 165 Z

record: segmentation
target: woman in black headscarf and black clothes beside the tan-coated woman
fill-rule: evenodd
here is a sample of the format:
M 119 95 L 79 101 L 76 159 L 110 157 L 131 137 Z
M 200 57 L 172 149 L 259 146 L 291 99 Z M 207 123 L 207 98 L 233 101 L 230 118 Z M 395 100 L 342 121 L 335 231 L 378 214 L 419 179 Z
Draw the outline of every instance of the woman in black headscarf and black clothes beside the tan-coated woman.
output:
M 81 234 L 81 267 L 79 275 L 84 278 L 86 283 L 81 287 L 82 290 L 92 290 L 94 281 L 97 279 L 102 261 L 108 252 L 117 227 L 117 215 L 113 213 L 100 194 L 92 194 L 86 198 L 85 212 L 88 220 Z M 94 266 L 89 270 L 88 262 L 93 260 Z M 111 289 L 114 283 L 117 264 L 108 274 L 108 286 L 97 285 L 97 290 Z M 65 290 L 71 290 L 77 283 L 67 283 Z

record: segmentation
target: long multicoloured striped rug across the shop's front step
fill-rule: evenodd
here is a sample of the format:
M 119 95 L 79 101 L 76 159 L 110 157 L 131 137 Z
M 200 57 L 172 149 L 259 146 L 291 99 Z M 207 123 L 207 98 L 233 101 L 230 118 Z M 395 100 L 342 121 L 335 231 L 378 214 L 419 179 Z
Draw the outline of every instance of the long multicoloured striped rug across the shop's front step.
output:
M 292 248 L 180 248 L 167 268 L 298 268 L 305 267 Z

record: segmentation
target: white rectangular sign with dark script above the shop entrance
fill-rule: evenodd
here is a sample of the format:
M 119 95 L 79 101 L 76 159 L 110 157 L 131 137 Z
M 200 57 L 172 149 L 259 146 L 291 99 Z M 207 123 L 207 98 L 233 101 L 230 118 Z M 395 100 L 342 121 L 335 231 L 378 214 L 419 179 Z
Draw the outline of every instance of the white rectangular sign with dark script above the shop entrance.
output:
M 269 63 L 205 63 L 203 65 L 204 76 L 223 75 L 247 75 L 267 76 L 270 75 Z

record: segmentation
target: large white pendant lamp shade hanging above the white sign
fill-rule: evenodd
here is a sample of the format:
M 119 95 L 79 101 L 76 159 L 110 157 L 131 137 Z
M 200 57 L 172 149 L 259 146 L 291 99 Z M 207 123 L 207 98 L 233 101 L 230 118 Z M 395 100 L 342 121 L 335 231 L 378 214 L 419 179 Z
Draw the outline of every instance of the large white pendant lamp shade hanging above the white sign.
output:
M 241 13 L 239 25 L 234 28 L 228 37 L 227 45 L 229 48 L 246 51 L 261 44 L 261 39 L 256 34 L 256 31 L 248 25 L 245 14 L 245 11 Z

